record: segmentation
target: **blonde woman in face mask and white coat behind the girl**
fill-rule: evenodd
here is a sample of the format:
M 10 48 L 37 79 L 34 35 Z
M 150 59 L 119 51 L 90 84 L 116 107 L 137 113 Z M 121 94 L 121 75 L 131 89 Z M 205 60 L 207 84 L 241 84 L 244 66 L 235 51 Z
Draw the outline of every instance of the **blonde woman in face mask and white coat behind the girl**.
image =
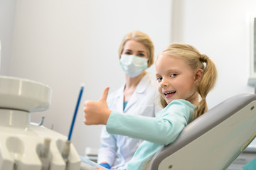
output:
M 119 64 L 125 73 L 125 83 L 107 98 L 110 110 L 122 114 L 154 117 L 161 110 L 154 74 L 146 72 L 154 63 L 154 45 L 148 35 L 138 30 L 127 33 L 119 47 Z M 122 127 L 120 127 L 122 128 Z M 127 163 L 142 140 L 111 135 L 102 128 L 97 163 L 107 169 L 119 169 Z

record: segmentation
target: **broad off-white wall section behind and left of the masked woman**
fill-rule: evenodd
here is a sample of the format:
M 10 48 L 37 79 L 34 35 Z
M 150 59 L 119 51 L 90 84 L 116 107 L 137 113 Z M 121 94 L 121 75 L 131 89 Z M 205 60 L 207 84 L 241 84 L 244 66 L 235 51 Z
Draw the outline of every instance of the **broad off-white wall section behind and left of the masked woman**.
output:
M 9 75 L 53 89 L 50 109 L 31 117 L 38 122 L 46 115 L 43 125 L 63 135 L 68 135 L 80 84 L 85 84 L 72 137 L 84 154 L 85 147 L 99 147 L 102 127 L 82 123 L 83 103 L 100 98 L 105 86 L 122 85 L 118 48 L 124 34 L 147 33 L 158 54 L 170 42 L 170 29 L 169 0 L 17 1 Z

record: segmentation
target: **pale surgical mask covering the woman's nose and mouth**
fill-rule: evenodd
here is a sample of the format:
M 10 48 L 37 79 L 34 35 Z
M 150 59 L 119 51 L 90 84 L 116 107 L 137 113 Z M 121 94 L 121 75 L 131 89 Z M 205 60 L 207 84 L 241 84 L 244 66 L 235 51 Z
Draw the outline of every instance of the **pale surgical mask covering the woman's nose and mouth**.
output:
M 129 77 L 137 77 L 148 66 L 148 59 L 135 55 L 121 55 L 119 64 Z

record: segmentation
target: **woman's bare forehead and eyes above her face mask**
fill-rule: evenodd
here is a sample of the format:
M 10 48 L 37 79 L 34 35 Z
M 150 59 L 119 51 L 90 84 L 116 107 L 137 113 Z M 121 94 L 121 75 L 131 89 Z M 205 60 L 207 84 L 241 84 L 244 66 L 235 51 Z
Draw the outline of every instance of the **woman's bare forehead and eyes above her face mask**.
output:
M 135 55 L 137 57 L 144 57 L 149 59 L 147 48 L 141 42 L 136 40 L 128 40 L 124 45 L 122 55 Z

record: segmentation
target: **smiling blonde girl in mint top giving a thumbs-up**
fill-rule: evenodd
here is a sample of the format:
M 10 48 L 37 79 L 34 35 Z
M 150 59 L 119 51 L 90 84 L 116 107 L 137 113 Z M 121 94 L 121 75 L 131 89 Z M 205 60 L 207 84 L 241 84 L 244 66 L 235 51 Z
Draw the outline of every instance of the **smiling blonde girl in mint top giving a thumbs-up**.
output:
M 171 44 L 156 60 L 156 80 L 165 107 L 156 118 L 110 111 L 107 87 L 100 101 L 85 102 L 84 123 L 106 125 L 112 134 L 145 140 L 125 169 L 146 169 L 161 147 L 174 142 L 188 123 L 207 111 L 206 96 L 216 77 L 215 64 L 206 55 L 191 45 Z

